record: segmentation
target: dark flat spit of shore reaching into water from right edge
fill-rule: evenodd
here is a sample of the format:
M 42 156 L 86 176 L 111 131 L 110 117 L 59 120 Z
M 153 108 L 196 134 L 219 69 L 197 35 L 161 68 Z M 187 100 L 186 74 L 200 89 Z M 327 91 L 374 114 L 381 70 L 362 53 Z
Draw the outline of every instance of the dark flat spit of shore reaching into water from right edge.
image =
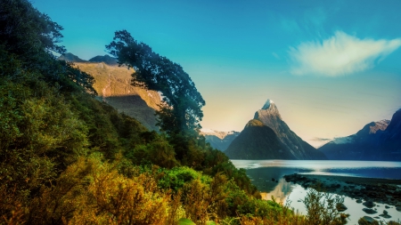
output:
M 284 179 L 303 188 L 317 185 L 324 192 L 355 198 L 358 203 L 394 205 L 401 212 L 401 180 L 299 173 L 285 175 Z

